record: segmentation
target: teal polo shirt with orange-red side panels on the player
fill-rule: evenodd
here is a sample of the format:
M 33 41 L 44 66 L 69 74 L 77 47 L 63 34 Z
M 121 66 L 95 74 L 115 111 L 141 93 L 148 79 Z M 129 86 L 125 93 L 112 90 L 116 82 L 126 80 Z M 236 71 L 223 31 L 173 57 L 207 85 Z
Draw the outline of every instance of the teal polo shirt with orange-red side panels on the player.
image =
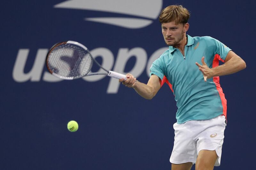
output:
M 150 76 L 158 76 L 162 85 L 167 83 L 173 91 L 177 102 L 177 123 L 189 120 L 207 120 L 218 115 L 227 116 L 227 100 L 220 87 L 219 77 L 204 81 L 204 76 L 196 62 L 201 59 L 209 68 L 224 62 L 231 50 L 220 41 L 209 37 L 191 37 L 187 35 L 185 57 L 178 48 L 169 46 L 150 67 Z

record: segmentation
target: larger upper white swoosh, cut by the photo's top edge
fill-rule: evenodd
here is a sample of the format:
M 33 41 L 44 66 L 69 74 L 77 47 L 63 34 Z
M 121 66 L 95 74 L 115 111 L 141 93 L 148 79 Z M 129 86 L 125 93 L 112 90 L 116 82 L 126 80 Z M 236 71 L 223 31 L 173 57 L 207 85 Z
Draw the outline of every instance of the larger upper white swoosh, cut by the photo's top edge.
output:
M 162 5 L 162 0 L 68 0 L 54 5 L 54 8 L 105 11 L 156 19 Z

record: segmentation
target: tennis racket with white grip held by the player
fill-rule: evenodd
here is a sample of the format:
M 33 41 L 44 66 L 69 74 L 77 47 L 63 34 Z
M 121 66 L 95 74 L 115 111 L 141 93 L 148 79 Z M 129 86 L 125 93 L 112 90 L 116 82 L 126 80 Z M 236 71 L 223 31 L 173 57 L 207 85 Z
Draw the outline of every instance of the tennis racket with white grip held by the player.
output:
M 91 73 L 92 64 L 96 63 L 105 72 Z M 55 44 L 46 56 L 49 72 L 61 79 L 72 80 L 83 76 L 107 75 L 113 78 L 127 79 L 124 74 L 108 71 L 92 57 L 88 48 L 76 41 L 63 41 Z

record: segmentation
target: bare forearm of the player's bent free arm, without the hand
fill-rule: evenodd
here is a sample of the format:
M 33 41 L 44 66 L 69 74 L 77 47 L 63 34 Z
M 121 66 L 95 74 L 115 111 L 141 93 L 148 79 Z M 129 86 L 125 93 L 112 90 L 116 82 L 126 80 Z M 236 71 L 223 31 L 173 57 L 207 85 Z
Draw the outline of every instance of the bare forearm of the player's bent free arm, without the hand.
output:
M 245 67 L 246 67 L 246 64 L 243 59 L 241 59 L 240 57 L 232 57 L 226 63 L 212 68 L 211 77 L 218 77 L 218 76 L 233 74 L 237 71 L 245 69 Z

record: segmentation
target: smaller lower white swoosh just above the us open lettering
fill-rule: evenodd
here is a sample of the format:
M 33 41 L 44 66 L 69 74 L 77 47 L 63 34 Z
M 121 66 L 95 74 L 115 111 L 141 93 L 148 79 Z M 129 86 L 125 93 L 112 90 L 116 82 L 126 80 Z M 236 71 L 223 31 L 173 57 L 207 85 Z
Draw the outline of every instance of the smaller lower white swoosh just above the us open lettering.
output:
M 124 28 L 142 28 L 148 26 L 153 21 L 148 19 L 138 18 L 115 18 L 115 17 L 104 17 L 104 18 L 84 18 L 87 21 L 101 22 L 105 24 L 111 24 L 115 26 L 122 26 Z

